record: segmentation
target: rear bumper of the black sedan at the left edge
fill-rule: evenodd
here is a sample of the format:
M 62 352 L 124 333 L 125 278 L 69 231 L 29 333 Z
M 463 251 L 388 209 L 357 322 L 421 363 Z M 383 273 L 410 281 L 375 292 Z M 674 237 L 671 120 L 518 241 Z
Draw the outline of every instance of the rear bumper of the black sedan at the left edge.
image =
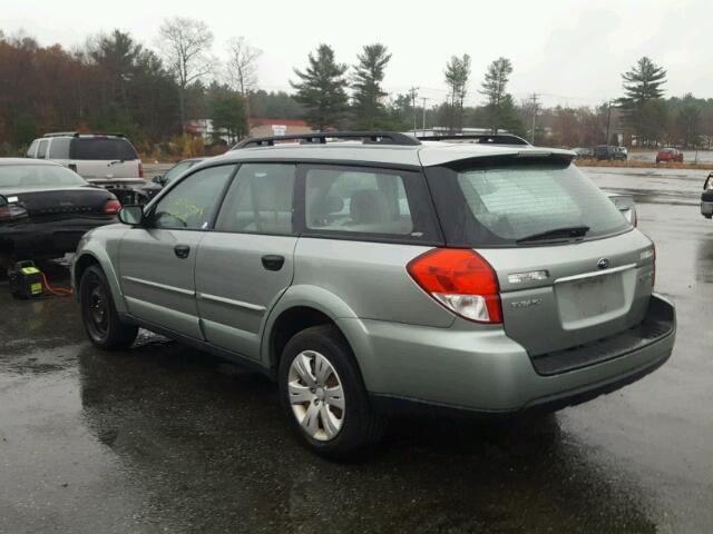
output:
M 0 226 L 0 254 L 10 254 L 21 259 L 55 258 L 75 251 L 87 231 L 116 221 L 116 217 L 77 217 Z

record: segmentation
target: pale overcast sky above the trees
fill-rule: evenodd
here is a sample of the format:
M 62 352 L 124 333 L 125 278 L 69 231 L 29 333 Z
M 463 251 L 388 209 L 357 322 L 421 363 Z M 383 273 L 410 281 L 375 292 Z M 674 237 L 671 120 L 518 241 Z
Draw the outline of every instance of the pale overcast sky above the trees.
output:
M 302 68 L 320 42 L 351 65 L 363 44 L 380 41 L 393 53 L 385 89 L 418 86 L 429 105 L 445 98 L 443 67 L 462 53 L 472 58 L 468 105 L 480 102 L 485 69 L 499 56 L 512 61 L 517 100 L 538 92 L 547 105 L 580 106 L 618 97 L 619 75 L 642 56 L 667 69 L 667 96 L 713 97 L 712 0 L 0 0 L 0 12 L 6 34 L 23 31 L 67 47 L 114 28 L 155 47 L 163 19 L 201 19 L 215 34 L 218 58 L 235 36 L 263 50 L 266 90 L 290 90 L 292 68 Z

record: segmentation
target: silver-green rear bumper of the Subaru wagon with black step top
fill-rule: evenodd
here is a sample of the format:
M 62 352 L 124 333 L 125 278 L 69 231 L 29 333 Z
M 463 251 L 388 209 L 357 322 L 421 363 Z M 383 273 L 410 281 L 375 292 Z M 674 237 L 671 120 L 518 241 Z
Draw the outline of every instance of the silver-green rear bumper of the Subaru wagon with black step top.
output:
M 648 319 L 666 325 L 646 330 L 648 338 L 598 347 L 589 354 L 583 352 L 584 356 L 570 350 L 580 365 L 549 375 L 538 373 L 527 352 L 500 329 L 440 329 L 363 320 L 359 323 L 365 342 L 354 343 L 359 332 L 351 323 L 358 319 L 342 319 L 340 326 L 352 343 L 378 407 L 514 415 L 579 404 L 663 365 L 675 340 L 675 310 L 654 296 L 649 314 L 654 317 Z M 633 335 L 629 333 L 629 338 Z M 599 354 L 593 358 L 595 353 Z

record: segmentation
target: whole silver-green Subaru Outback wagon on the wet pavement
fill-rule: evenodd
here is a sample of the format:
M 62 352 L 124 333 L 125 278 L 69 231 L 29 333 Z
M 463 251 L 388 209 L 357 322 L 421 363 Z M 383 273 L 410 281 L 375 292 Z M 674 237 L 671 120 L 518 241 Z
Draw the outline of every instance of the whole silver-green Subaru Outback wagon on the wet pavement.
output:
M 260 369 L 332 457 L 393 412 L 553 411 L 671 355 L 654 246 L 574 152 L 301 137 L 238 145 L 87 234 L 91 342 L 125 349 L 144 327 Z

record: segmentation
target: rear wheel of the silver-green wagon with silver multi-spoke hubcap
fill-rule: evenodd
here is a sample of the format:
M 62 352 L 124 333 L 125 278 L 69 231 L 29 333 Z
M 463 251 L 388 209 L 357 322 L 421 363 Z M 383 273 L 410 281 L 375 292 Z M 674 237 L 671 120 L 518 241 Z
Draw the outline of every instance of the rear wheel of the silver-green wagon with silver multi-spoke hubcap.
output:
M 346 459 L 374 444 L 384 421 L 369 403 L 349 344 L 332 325 L 296 334 L 279 369 L 280 397 L 290 425 L 309 449 Z

